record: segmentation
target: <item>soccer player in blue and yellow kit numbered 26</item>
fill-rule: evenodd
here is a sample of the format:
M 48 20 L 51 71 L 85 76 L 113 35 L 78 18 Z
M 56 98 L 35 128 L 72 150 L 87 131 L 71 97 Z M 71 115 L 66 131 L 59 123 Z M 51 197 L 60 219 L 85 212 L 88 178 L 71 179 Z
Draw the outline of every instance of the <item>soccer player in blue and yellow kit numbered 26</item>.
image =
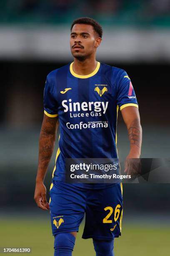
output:
M 74 61 L 50 72 L 45 83 L 34 199 L 42 210 L 50 209 L 55 256 L 72 255 L 84 214 L 82 238 L 92 238 L 97 256 L 113 256 L 114 238 L 121 235 L 122 184 L 66 183 L 65 159 L 117 158 L 119 109 L 130 140 L 127 159 L 140 157 L 142 129 L 132 83 L 123 69 L 96 61 L 101 41 L 102 28 L 97 21 L 75 20 L 70 35 Z M 48 203 L 43 181 L 59 124 Z

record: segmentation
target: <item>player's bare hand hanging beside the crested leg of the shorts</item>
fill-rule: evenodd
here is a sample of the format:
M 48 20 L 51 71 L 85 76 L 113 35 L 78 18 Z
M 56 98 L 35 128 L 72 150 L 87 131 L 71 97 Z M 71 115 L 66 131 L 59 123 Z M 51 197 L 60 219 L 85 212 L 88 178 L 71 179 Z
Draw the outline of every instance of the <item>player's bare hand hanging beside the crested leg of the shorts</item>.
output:
M 36 182 L 34 200 L 42 210 L 50 209 L 50 205 L 46 200 L 46 187 L 43 182 Z

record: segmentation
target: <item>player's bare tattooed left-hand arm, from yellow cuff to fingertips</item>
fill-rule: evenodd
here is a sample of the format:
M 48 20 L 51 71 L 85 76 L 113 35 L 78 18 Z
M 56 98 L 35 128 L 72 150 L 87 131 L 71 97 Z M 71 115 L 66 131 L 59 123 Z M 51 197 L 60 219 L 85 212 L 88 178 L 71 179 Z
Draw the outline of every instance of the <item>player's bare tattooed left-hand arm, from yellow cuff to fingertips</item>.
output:
M 44 178 L 54 149 L 57 127 L 58 118 L 50 118 L 44 114 L 40 131 L 38 170 L 34 195 L 37 206 L 43 210 L 49 209 L 49 203 L 46 201 Z

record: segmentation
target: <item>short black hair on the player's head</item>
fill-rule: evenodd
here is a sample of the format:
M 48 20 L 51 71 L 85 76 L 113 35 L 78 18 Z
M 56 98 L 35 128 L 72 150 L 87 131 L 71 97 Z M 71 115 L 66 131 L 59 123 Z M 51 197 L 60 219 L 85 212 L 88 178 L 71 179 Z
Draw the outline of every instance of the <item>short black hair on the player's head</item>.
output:
M 102 38 L 102 27 L 96 20 L 93 20 L 92 18 L 89 18 L 89 17 L 78 18 L 73 21 L 71 25 L 71 30 L 75 24 L 87 24 L 87 25 L 93 26 L 94 31 Z

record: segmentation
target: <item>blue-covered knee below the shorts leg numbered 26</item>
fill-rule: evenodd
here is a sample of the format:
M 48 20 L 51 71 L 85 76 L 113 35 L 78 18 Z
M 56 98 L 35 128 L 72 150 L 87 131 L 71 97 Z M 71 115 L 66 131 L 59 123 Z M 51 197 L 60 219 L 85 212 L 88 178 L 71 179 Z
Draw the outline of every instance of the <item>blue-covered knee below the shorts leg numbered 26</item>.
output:
M 96 240 L 93 239 L 96 256 L 113 256 L 113 240 Z

